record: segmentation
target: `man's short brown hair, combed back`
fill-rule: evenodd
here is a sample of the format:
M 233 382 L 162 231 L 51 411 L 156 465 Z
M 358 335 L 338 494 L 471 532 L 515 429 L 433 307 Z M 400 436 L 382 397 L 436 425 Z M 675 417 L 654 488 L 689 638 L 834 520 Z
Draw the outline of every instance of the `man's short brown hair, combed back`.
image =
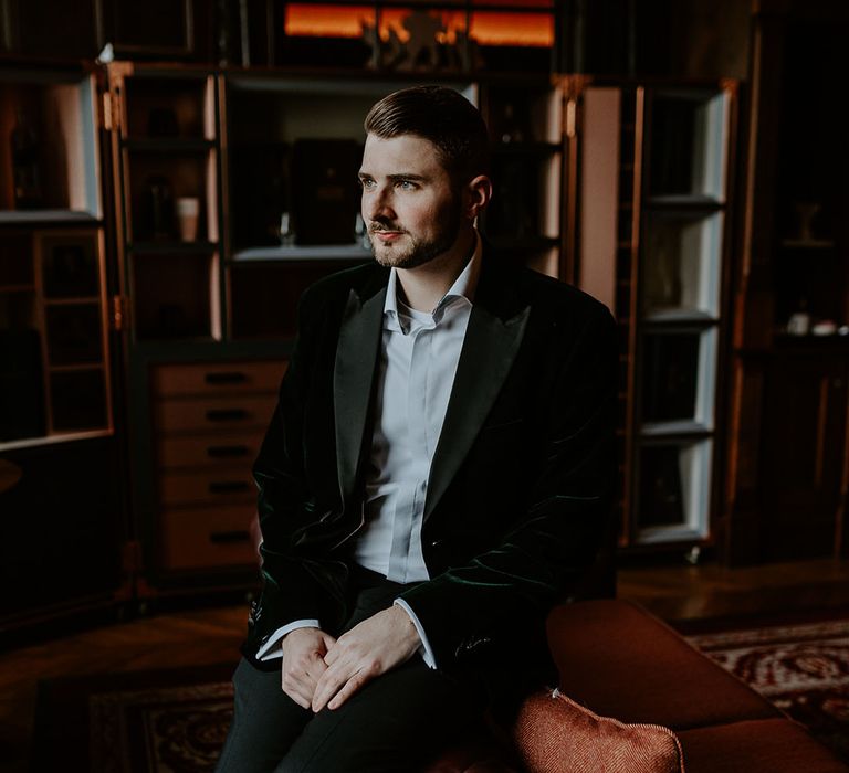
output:
M 416 135 L 431 141 L 458 182 L 490 172 L 486 124 L 453 88 L 413 86 L 394 92 L 374 105 L 364 127 L 366 134 L 382 139 Z

